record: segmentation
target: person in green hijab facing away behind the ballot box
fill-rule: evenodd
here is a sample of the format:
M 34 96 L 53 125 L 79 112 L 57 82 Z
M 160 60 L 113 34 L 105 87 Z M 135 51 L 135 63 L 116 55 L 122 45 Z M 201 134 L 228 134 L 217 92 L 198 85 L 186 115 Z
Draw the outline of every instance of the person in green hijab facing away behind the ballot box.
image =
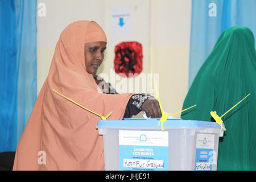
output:
M 234 26 L 222 32 L 197 73 L 185 98 L 182 119 L 214 121 L 219 116 L 226 131 L 220 138 L 217 170 L 256 170 L 256 53 L 253 32 Z

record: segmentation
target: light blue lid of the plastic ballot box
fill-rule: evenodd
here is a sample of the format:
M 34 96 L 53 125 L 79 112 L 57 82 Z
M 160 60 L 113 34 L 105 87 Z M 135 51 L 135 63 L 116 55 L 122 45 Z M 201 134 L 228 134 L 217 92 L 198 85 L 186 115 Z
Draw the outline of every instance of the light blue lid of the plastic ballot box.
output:
M 124 120 L 101 120 L 97 123 L 97 128 L 101 127 L 159 127 L 159 118 L 127 118 Z M 163 123 L 164 127 L 206 127 L 211 129 L 220 129 L 220 125 L 216 122 L 194 121 L 183 119 L 167 119 Z M 225 127 L 223 123 L 223 127 Z

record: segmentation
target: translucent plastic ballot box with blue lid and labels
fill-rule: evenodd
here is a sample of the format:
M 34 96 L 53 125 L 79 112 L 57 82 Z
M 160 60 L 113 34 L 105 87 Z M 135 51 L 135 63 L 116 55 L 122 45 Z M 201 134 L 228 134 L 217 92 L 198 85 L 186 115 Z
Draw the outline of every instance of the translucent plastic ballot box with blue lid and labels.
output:
M 105 170 L 217 169 L 223 131 L 216 122 L 136 118 L 98 121 L 96 128 L 103 136 Z

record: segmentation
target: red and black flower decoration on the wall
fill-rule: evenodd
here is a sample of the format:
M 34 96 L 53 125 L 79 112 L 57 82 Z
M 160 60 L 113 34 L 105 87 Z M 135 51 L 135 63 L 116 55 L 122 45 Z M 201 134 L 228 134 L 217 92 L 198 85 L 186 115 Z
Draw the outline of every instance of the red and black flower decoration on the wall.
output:
M 115 73 L 124 73 L 126 77 L 137 76 L 142 72 L 142 44 L 122 42 L 115 46 Z M 133 73 L 132 75 L 129 73 Z M 137 73 L 137 74 L 136 74 Z M 121 74 L 122 76 L 123 74 Z

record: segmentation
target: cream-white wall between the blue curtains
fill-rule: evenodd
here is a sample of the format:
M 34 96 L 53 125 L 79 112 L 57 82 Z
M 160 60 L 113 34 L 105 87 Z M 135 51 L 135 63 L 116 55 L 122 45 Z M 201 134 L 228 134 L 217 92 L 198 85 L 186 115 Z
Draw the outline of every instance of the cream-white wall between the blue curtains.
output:
M 95 20 L 108 37 L 108 48 L 98 74 L 105 73 L 110 78 L 115 45 L 123 41 L 140 42 L 144 56 L 142 74 L 159 73 L 164 111 L 181 110 L 188 90 L 191 0 L 38 0 L 40 2 L 46 5 L 46 16 L 38 17 L 38 93 L 48 75 L 61 31 L 76 20 Z M 132 35 L 114 38 L 112 8 L 123 6 L 131 10 Z M 115 78 L 120 77 L 115 75 Z M 128 82 L 127 78 L 123 80 Z

